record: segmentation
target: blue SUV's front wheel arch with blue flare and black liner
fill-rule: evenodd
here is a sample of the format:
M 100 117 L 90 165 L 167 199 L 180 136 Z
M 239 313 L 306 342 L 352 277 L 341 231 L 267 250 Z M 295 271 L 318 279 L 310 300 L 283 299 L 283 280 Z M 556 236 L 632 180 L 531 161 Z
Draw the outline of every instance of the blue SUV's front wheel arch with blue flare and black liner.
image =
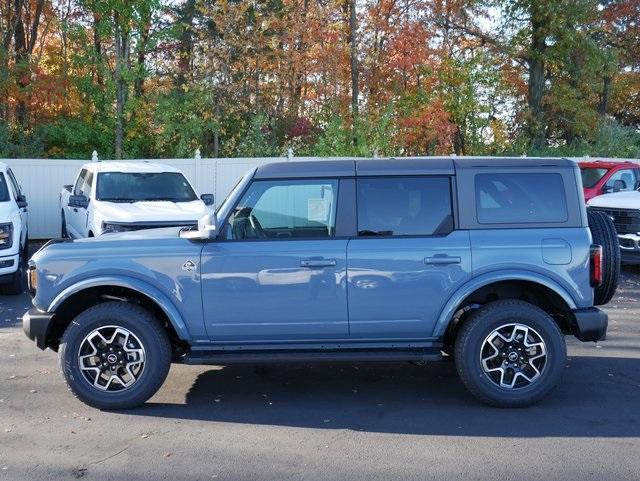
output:
M 77 282 L 51 301 L 47 312 L 55 317 L 47 333 L 47 345 L 57 347 L 62 333 L 80 312 L 110 300 L 136 302 L 150 310 L 163 321 L 174 344 L 184 345 L 191 339 L 182 315 L 159 289 L 138 279 L 100 277 Z

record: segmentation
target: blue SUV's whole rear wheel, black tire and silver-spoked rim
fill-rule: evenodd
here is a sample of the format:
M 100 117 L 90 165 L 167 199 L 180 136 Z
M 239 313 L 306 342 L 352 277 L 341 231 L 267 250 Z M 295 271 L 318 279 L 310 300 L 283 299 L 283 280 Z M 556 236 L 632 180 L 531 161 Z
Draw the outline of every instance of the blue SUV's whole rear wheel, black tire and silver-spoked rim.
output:
M 462 382 L 480 401 L 497 407 L 538 402 L 559 383 L 566 358 L 564 336 L 551 316 L 519 300 L 481 307 L 455 342 Z

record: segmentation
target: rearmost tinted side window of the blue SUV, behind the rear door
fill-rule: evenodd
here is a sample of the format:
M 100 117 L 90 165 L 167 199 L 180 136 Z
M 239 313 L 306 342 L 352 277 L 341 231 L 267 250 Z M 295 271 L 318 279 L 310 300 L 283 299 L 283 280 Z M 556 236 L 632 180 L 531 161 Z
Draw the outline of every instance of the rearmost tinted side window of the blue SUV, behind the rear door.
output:
M 476 209 L 481 224 L 566 222 L 560 174 L 478 174 Z

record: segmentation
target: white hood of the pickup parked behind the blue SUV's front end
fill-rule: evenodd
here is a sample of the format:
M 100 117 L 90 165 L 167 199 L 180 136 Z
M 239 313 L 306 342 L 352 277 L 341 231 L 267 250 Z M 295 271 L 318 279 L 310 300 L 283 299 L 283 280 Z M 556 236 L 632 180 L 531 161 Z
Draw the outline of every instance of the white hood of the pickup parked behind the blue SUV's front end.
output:
M 208 212 L 207 206 L 201 200 L 132 203 L 96 201 L 94 209 L 107 222 L 197 221 Z

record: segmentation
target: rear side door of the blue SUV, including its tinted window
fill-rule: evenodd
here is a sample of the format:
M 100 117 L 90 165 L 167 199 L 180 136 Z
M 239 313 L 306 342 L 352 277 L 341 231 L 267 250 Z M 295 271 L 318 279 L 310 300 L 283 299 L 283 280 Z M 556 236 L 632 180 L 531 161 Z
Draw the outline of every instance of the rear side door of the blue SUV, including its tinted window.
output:
M 454 230 L 451 177 L 359 177 L 357 211 L 347 250 L 351 337 L 429 338 L 470 277 L 469 233 Z

